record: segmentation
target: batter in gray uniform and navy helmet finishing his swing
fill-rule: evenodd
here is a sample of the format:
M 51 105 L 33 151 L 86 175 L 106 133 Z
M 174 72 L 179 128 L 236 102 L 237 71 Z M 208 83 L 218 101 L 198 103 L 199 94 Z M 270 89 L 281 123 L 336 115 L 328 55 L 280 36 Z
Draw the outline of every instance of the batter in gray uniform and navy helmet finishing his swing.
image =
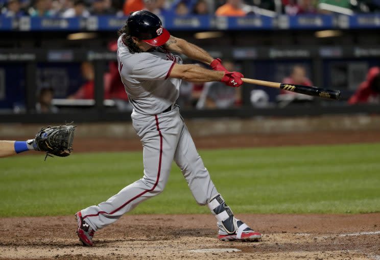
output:
M 213 185 L 175 103 L 182 80 L 220 81 L 229 87 L 239 87 L 243 75 L 227 71 L 219 59 L 211 58 L 200 47 L 171 36 L 162 28 L 160 19 L 148 11 L 131 13 L 119 35 L 118 70 L 133 106 L 133 127 L 143 144 L 144 176 L 107 201 L 77 212 L 79 240 L 92 246 L 94 232 L 160 194 L 173 160 L 198 204 L 207 205 L 217 218 L 220 240 L 260 239 L 259 232 L 235 218 Z M 213 70 L 183 65 L 172 51 L 210 64 Z

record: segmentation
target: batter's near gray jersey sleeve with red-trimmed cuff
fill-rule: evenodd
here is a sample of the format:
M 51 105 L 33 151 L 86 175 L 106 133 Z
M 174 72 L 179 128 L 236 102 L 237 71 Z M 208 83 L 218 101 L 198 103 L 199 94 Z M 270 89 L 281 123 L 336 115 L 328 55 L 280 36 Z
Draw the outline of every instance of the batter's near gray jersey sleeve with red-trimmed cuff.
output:
M 166 80 L 175 64 L 150 53 L 141 53 L 139 58 L 131 71 L 131 77 L 138 81 Z

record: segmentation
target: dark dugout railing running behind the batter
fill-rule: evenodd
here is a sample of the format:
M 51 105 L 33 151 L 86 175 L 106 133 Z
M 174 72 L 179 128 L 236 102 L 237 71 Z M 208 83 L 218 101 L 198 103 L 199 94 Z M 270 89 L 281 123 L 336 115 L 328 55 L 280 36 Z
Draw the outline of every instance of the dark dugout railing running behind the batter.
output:
M 324 82 L 324 60 L 362 59 L 370 60 L 371 64 L 379 64 L 380 47 L 378 46 L 271 46 L 271 47 L 235 47 L 212 48 L 211 53 L 222 59 L 233 59 L 241 64 L 241 70 L 246 77 L 263 79 L 263 75 L 254 73 L 254 66 L 261 61 L 288 61 L 297 63 L 298 60 L 309 60 L 312 64 L 312 80 L 314 85 L 329 88 Z M 94 122 L 94 121 L 128 121 L 130 113 L 109 110 L 104 106 L 103 73 L 109 61 L 115 61 L 116 55 L 104 49 L 0 49 L 0 62 L 6 64 L 22 64 L 25 66 L 26 87 L 25 107 L 26 112 L 20 114 L 1 113 L 0 122 Z M 37 63 L 59 62 L 73 63 L 90 61 L 94 65 L 94 103 L 86 110 L 74 110 L 58 114 L 36 114 L 36 93 L 38 90 L 36 80 Z M 268 71 L 268 74 L 273 73 Z M 266 80 L 264 78 L 264 80 Z M 234 109 L 223 110 L 183 110 L 187 118 L 197 117 L 255 117 L 255 116 L 304 116 L 321 114 L 379 114 L 380 106 L 360 105 L 348 106 L 347 98 L 352 90 L 342 90 L 341 101 L 328 101 L 317 99 L 312 104 L 289 106 L 286 108 L 255 108 L 251 106 L 249 96 L 255 89 L 254 86 L 242 88 L 243 106 Z

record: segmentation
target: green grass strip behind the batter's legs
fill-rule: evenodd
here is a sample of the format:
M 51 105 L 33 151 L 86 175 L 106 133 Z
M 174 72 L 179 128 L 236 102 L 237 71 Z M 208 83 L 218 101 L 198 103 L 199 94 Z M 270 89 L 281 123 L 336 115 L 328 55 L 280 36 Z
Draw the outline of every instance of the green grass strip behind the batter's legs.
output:
M 235 213 L 380 212 L 380 144 L 201 150 Z M 141 152 L 0 159 L 0 216 L 74 214 L 143 174 Z M 207 213 L 173 165 L 164 192 L 132 214 Z

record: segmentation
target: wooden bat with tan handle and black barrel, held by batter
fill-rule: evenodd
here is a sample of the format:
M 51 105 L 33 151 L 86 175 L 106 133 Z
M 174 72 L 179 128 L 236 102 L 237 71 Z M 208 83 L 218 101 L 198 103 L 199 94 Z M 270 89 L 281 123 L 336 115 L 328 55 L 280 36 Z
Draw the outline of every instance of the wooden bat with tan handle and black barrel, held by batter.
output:
M 317 88 L 317 87 L 308 87 L 308 86 L 302 86 L 302 85 L 292 85 L 292 84 L 276 83 L 276 82 L 269 82 L 269 81 L 259 81 L 259 80 L 247 79 L 245 77 L 242 77 L 242 81 L 245 83 L 256 84 L 256 85 L 270 87 L 270 88 L 278 88 L 278 89 L 289 90 L 289 91 L 293 91 L 293 92 L 301 93 L 301 94 L 305 94 L 305 95 L 310 95 L 310 96 L 318 96 L 318 97 L 335 99 L 335 100 L 339 100 L 339 98 L 340 98 L 340 91 L 339 90 L 329 90 L 329 89 L 322 89 L 322 88 Z

